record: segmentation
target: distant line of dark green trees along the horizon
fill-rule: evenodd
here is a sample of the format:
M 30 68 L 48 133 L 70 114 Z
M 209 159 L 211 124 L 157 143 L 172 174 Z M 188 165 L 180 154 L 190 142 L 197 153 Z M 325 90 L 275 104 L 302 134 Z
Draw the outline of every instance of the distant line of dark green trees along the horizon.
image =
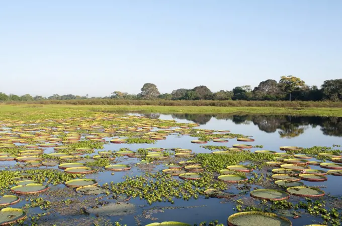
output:
M 219 82 L 219 81 L 218 81 Z M 156 85 L 146 83 L 139 94 L 128 94 L 122 91 L 114 91 L 107 97 L 76 96 L 72 94 L 50 97 L 31 96 L 25 94 L 0 93 L 0 102 L 17 101 L 43 101 L 43 100 L 82 100 L 82 99 L 120 99 L 120 100 L 246 100 L 246 101 L 340 101 L 342 100 L 342 79 L 326 80 L 320 89 L 317 86 L 308 86 L 300 78 L 283 76 L 280 81 L 266 80 L 259 86 L 235 87 L 233 90 L 220 90 L 212 92 L 206 86 L 197 86 L 193 89 L 178 89 L 172 93 L 161 94 Z

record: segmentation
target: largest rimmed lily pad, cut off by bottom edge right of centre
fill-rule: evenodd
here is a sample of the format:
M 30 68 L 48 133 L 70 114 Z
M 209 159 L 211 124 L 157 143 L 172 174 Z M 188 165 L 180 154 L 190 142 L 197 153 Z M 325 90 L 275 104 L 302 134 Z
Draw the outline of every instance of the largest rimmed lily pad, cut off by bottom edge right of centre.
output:
M 229 226 L 292 226 L 289 219 L 275 213 L 239 212 L 228 217 Z

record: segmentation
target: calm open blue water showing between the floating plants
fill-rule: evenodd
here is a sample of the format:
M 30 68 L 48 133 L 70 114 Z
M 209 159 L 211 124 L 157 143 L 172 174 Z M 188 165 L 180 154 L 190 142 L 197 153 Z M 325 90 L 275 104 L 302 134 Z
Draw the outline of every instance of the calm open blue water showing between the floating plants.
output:
M 127 113 L 126 113 L 127 114 Z M 215 130 L 230 130 L 232 133 L 241 133 L 244 135 L 251 135 L 255 139 L 251 144 L 264 145 L 263 148 L 252 148 L 251 152 L 258 149 L 279 150 L 280 146 L 302 146 L 311 147 L 317 146 L 332 146 L 332 144 L 342 144 L 342 119 L 329 117 L 295 117 L 295 116 L 265 116 L 265 115 L 225 115 L 225 114 L 137 114 L 151 118 L 170 119 L 178 122 L 196 122 L 200 127 L 205 129 Z M 110 138 L 107 138 L 110 140 Z M 121 147 L 128 147 L 132 150 L 146 147 L 163 147 L 163 148 L 189 148 L 195 153 L 210 153 L 210 150 L 200 147 L 201 144 L 193 144 L 190 141 L 194 140 L 191 136 L 178 137 L 177 135 L 169 135 L 166 140 L 158 140 L 155 144 L 106 144 L 106 150 L 118 150 Z M 239 143 L 236 139 L 229 139 L 228 143 L 218 144 L 215 142 L 208 142 L 205 145 L 227 145 L 232 146 Z M 338 147 L 337 147 L 338 148 Z M 53 148 L 47 148 L 45 153 L 53 152 Z M 97 153 L 97 150 L 96 150 Z M 310 159 L 314 161 L 315 159 Z M 137 160 L 133 158 L 123 157 L 120 159 L 122 163 L 134 165 Z M 6 163 L 11 165 L 12 163 Z M 57 168 L 57 167 L 56 167 Z M 158 172 L 161 169 L 166 169 L 163 165 L 155 166 L 153 172 Z M 321 169 L 319 166 L 311 166 L 312 169 Z M 326 170 L 326 169 L 323 169 Z M 141 171 L 134 168 L 127 172 L 111 172 L 105 171 L 99 174 L 89 175 L 87 178 L 96 179 L 100 185 L 110 183 L 111 181 L 123 181 L 123 176 L 135 176 Z M 322 188 L 327 194 L 333 196 L 341 196 L 342 180 L 341 177 L 327 176 L 328 180 L 325 182 L 304 182 L 308 186 L 325 186 Z M 176 178 L 176 177 L 175 177 Z M 63 185 L 61 185 L 63 186 Z M 238 193 L 235 186 L 232 186 L 228 191 Z M 44 196 L 44 195 L 43 195 Z M 249 193 L 245 197 L 249 197 Z M 289 201 L 293 203 L 300 200 L 297 197 L 291 196 Z M 112 221 L 120 221 L 122 224 L 136 225 L 137 221 L 134 216 L 138 215 L 141 225 L 151 222 L 161 221 L 182 221 L 186 223 L 200 223 L 202 221 L 218 220 L 226 224 L 227 217 L 236 211 L 233 210 L 235 203 L 225 202 L 222 199 L 200 197 L 195 200 L 183 201 L 175 199 L 175 204 L 168 202 L 154 203 L 148 205 L 146 201 L 139 199 L 131 199 L 130 203 L 136 204 L 137 211 L 134 215 L 124 215 L 111 217 Z M 18 203 L 13 207 L 22 207 L 23 203 Z M 169 208 L 177 207 L 177 208 Z M 341 207 L 342 208 L 342 207 Z M 37 210 L 38 211 L 38 210 Z M 142 216 L 142 212 L 151 213 L 150 218 Z M 297 219 L 290 218 L 294 226 L 310 224 L 315 218 L 304 215 Z M 62 219 L 60 219 L 62 220 Z M 317 218 L 317 220 L 320 220 Z M 58 225 L 58 223 L 57 223 Z M 81 224 L 80 224 L 81 225 Z

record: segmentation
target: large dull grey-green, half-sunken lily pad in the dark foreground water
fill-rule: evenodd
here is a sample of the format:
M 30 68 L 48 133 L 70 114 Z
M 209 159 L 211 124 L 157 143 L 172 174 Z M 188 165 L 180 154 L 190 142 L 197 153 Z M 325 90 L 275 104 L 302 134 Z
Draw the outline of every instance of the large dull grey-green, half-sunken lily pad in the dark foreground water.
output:
M 87 212 L 97 216 L 121 216 L 133 214 L 135 212 L 135 205 L 125 202 L 110 202 L 106 205 L 101 205 L 98 208 L 87 208 Z

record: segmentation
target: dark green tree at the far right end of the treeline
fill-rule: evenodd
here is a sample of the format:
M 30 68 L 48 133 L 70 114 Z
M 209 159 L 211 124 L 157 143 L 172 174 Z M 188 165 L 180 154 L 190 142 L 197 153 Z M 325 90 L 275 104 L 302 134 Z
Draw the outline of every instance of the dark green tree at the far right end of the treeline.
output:
M 326 80 L 321 86 L 324 99 L 342 100 L 342 79 Z

